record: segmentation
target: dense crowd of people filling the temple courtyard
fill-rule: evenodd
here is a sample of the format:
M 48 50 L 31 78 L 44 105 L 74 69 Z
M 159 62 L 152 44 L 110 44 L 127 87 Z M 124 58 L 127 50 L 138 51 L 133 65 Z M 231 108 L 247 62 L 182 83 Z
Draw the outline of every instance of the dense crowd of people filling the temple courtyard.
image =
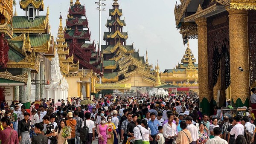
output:
M 71 101 L 42 99 L 26 109 L 21 102 L 0 112 L 2 144 L 252 144 L 255 117 L 248 108 L 242 117 L 202 114 L 198 98 L 171 97 L 94 98 L 83 105 Z M 227 103 L 230 104 L 230 103 Z M 65 126 L 71 127 L 63 137 Z M 88 127 L 88 139 L 80 132 Z M 251 136 L 251 137 L 250 137 Z

